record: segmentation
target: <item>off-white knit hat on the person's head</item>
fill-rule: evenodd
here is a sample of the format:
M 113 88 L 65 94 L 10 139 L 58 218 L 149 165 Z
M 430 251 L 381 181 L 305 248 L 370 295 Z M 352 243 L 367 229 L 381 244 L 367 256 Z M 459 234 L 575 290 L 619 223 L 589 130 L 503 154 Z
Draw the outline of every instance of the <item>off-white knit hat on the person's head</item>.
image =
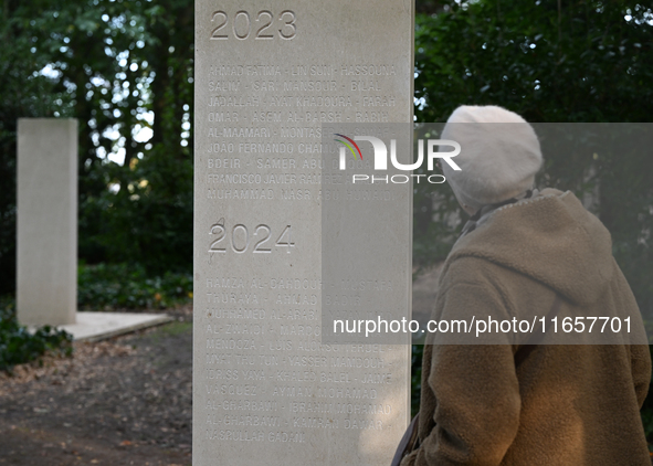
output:
M 461 153 L 452 159 L 461 170 L 446 162 L 442 170 L 456 198 L 475 209 L 531 189 L 543 163 L 533 127 L 519 115 L 494 105 L 456 108 L 441 138 L 461 145 Z M 451 148 L 441 146 L 441 150 Z

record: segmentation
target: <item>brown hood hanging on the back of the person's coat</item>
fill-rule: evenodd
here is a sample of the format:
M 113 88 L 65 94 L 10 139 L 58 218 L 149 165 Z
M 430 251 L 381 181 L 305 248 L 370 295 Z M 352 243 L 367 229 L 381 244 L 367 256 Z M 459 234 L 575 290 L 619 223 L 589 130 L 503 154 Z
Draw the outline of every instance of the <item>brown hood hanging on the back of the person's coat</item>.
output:
M 465 256 L 510 268 L 581 305 L 598 299 L 613 273 L 605 226 L 571 192 L 555 189 L 493 211 L 459 240 L 443 272 Z

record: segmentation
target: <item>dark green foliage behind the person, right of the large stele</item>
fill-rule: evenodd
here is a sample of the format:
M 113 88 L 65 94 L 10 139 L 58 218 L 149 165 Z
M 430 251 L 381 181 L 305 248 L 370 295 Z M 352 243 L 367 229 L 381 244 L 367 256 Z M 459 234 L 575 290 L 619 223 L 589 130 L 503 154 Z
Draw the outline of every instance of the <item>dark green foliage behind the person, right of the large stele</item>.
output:
M 445 2 L 415 20 L 415 115 L 444 121 L 462 104 L 501 105 L 529 121 L 650 121 L 653 13 L 636 1 Z M 463 46 L 464 45 L 464 46 Z M 596 213 L 640 307 L 653 316 L 653 184 L 645 151 L 601 157 L 548 151 L 539 186 L 582 195 L 600 187 Z M 589 180 L 589 182 L 588 182 Z M 418 184 L 414 261 L 443 258 L 466 215 L 449 187 Z

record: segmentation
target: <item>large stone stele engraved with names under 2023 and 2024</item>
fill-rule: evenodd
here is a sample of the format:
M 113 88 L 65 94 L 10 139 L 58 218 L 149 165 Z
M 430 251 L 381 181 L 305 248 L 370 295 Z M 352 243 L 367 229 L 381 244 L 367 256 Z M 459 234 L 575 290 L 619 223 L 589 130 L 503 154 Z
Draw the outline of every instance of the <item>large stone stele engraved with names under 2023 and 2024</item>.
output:
M 194 46 L 193 465 L 390 464 L 410 345 L 323 339 L 325 293 L 360 290 L 324 289 L 337 225 L 323 220 L 340 204 L 323 216 L 323 138 L 329 125 L 412 125 L 413 3 L 197 0 Z M 394 261 L 378 262 L 391 276 L 380 296 L 409 316 L 402 192 L 383 210 L 392 233 L 369 237 Z

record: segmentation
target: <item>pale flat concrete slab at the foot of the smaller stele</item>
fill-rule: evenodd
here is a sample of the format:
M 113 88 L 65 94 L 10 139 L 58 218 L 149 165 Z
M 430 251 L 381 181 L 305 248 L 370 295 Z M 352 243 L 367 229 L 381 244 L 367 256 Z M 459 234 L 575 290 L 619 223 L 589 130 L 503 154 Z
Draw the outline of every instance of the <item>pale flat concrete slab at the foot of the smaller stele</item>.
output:
M 72 333 L 75 341 L 99 341 L 171 320 L 166 314 L 77 311 L 76 324 L 57 328 Z

